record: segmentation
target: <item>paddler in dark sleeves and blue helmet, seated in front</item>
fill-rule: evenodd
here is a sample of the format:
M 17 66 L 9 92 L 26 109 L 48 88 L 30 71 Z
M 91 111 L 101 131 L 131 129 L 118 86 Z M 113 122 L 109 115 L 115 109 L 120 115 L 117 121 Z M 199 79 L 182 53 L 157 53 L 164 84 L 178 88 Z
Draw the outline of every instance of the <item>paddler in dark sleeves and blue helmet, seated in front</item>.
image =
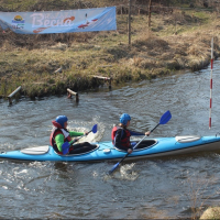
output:
M 131 135 L 150 135 L 150 131 L 142 133 L 136 131 L 131 131 L 128 129 L 130 125 L 131 117 L 128 113 L 123 113 L 120 117 L 120 123 L 112 129 L 111 139 L 112 143 L 117 148 L 132 153 L 135 142 L 130 141 Z

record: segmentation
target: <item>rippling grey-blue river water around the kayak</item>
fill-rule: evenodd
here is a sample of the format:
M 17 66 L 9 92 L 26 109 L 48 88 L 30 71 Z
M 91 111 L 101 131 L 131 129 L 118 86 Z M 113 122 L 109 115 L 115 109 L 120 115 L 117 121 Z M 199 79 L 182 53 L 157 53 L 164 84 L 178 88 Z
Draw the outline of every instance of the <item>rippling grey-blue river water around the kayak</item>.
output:
M 0 100 L 1 151 L 48 144 L 52 120 L 69 119 L 69 129 L 98 133 L 85 140 L 109 141 L 121 113 L 131 114 L 131 129 L 153 129 L 164 112 L 172 120 L 151 136 L 215 135 L 220 132 L 220 62 L 213 65 L 212 127 L 209 130 L 210 67 L 196 73 L 108 85 L 74 98 Z M 85 141 L 84 140 L 84 141 Z M 197 153 L 124 163 L 94 164 L 0 162 L 1 218 L 167 219 L 193 218 L 220 202 L 220 154 Z

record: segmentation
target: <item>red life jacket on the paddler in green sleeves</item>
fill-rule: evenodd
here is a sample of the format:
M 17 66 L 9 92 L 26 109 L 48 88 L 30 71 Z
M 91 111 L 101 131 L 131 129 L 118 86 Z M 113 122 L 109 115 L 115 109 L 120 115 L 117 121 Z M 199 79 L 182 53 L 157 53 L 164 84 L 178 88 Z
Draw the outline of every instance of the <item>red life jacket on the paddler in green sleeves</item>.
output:
M 62 152 L 59 152 L 59 150 L 56 145 L 55 136 L 57 134 L 63 134 L 64 135 L 64 142 L 70 142 L 72 138 L 69 135 L 69 132 L 66 129 L 63 129 L 59 123 L 57 123 L 56 121 L 52 121 L 52 123 L 54 125 L 54 129 L 52 130 L 52 133 L 51 133 L 51 136 L 50 136 L 50 143 L 57 154 L 63 154 Z

